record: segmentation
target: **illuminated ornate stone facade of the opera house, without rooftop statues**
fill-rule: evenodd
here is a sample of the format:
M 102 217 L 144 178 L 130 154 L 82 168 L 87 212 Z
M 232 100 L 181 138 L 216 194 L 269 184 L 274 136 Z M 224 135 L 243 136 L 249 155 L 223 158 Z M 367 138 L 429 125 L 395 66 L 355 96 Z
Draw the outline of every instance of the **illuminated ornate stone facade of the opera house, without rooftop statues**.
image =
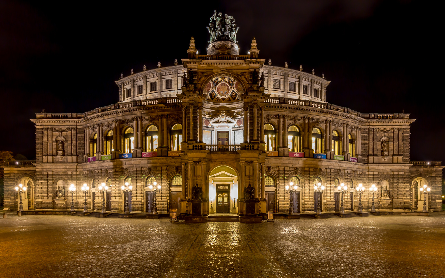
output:
M 327 103 L 330 81 L 301 67 L 264 64 L 258 52 L 254 39 L 249 55 L 198 55 L 192 38 L 182 65 L 144 67 L 116 81 L 116 104 L 81 114 L 37 113 L 36 161 L 5 166 L 5 206 L 17 210 L 14 187 L 26 182 L 28 210 L 56 209 L 59 185 L 65 189 L 62 209 L 68 209 L 74 184 L 75 208 L 81 210 L 86 183 L 89 210 L 101 210 L 106 199 L 107 210 L 123 211 L 121 186 L 129 182 L 131 209 L 149 212 L 148 185 L 156 181 L 159 213 L 172 207 L 190 213 L 196 184 L 204 216 L 216 212 L 218 184 L 230 189 L 232 213 L 247 214 L 249 184 L 255 214 L 287 213 L 285 186 L 292 179 L 298 185 L 295 212 L 314 211 L 317 182 L 325 186 L 322 211 L 339 209 L 341 183 L 349 188 L 345 210 L 358 209 L 354 188 L 360 183 L 367 188 L 364 210 L 371 208 L 372 184 L 377 210 L 418 210 L 424 184 L 431 188 L 428 210 L 441 210 L 443 167 L 440 161 L 410 161 L 409 114 L 365 114 Z M 218 171 L 222 166 L 233 173 Z M 102 182 L 109 186 L 106 196 L 98 192 Z M 382 198 L 384 190 L 388 197 Z

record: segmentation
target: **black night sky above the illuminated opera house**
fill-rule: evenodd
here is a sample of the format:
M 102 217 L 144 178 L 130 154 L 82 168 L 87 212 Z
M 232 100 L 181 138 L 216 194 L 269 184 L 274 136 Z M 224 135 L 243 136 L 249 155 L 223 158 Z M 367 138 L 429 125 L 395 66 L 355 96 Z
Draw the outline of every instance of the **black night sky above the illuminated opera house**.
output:
M 56 4 L 54 4 L 56 3 Z M 235 17 L 240 54 L 332 81 L 327 101 L 362 113 L 411 113 L 412 160 L 444 160 L 443 22 L 434 1 L 51 2 L 0 0 L 0 150 L 35 157 L 28 119 L 117 102 L 114 80 L 200 53 L 213 10 Z M 129 4 L 128 4 L 129 3 Z M 208 1 L 207 3 L 210 3 Z

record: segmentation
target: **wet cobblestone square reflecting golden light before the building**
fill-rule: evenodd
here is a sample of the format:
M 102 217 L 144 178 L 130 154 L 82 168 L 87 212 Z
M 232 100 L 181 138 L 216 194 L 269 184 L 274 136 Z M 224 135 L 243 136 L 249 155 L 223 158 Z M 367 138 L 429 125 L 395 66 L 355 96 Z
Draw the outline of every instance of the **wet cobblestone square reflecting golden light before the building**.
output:
M 445 215 L 170 223 L 13 213 L 0 277 L 445 277 Z

